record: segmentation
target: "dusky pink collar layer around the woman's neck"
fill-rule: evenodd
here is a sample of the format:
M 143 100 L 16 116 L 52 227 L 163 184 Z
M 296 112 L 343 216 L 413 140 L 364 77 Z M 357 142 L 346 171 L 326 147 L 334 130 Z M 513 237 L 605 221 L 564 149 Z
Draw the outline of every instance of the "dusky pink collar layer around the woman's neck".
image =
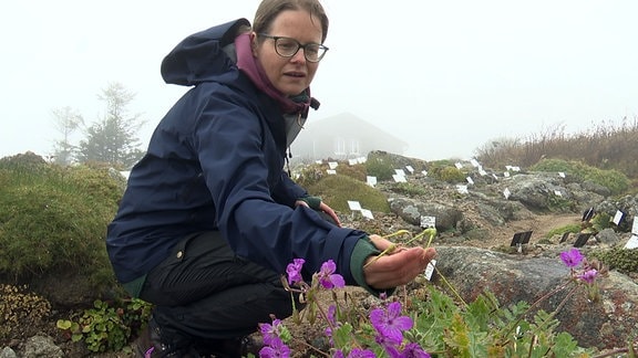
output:
M 241 70 L 257 86 L 257 88 L 264 91 L 269 97 L 277 101 L 281 106 L 281 110 L 286 114 L 297 114 L 308 113 L 308 107 L 310 106 L 310 88 L 307 88 L 295 99 L 299 98 L 299 102 L 292 101 L 290 97 L 284 95 L 279 90 L 275 88 L 270 80 L 266 76 L 266 72 L 259 61 L 256 61 L 253 55 L 253 49 L 250 46 L 250 34 L 243 33 L 235 39 L 235 49 L 237 51 L 237 67 Z

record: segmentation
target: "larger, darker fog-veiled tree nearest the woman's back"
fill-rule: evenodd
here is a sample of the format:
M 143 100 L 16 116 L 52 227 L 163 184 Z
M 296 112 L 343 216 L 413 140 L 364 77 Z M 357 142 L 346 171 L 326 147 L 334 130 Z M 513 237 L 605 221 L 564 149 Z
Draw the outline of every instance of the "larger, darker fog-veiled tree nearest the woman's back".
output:
M 130 168 L 144 154 L 136 137 L 144 123 L 140 115 L 127 115 L 126 108 L 135 95 L 122 84 L 111 83 L 97 97 L 106 103 L 106 114 L 86 128 L 86 137 L 80 141 L 78 159 L 81 162 L 99 161 Z

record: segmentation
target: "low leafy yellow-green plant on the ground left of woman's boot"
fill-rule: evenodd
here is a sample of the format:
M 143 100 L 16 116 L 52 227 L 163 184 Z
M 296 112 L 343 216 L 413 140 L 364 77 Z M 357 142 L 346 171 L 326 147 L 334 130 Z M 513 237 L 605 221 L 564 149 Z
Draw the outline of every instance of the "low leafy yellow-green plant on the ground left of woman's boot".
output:
M 94 352 L 121 350 L 142 323 L 148 320 L 151 304 L 133 298 L 121 306 L 96 299 L 93 308 L 85 309 L 76 320 L 59 319 L 62 329 L 72 341 L 83 340 Z

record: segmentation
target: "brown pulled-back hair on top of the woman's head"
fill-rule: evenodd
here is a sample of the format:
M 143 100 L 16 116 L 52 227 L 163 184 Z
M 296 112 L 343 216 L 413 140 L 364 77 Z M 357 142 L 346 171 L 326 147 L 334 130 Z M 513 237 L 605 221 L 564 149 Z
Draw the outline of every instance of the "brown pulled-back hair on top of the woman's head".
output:
M 255 12 L 253 31 L 268 32 L 277 15 L 286 10 L 305 10 L 321 21 L 321 43 L 328 35 L 328 15 L 319 0 L 264 0 Z

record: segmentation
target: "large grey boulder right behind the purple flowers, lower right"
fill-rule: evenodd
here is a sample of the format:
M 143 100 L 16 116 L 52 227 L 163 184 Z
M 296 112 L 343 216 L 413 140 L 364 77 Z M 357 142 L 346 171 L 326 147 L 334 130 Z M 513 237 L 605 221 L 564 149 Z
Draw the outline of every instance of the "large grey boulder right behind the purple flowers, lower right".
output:
M 569 268 L 557 254 L 531 257 L 464 246 L 441 246 L 436 252 L 440 273 L 465 302 L 474 301 L 487 289 L 502 306 L 521 301 L 532 304 L 563 285 L 569 275 Z M 617 272 L 598 280 L 600 301 L 589 301 L 582 286 L 557 313 L 560 322 L 557 329 L 568 331 L 582 347 L 626 347 L 638 325 L 638 285 Z M 566 295 L 566 289 L 560 291 L 538 307 L 553 312 Z

